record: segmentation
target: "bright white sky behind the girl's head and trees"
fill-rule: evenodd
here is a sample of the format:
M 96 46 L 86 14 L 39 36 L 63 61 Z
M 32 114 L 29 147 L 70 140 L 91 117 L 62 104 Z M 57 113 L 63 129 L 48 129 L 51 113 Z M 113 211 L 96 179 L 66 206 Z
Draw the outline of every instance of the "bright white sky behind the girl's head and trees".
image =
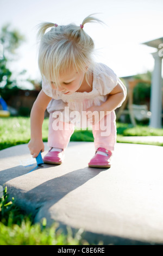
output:
M 0 28 L 10 23 L 26 37 L 11 70 L 17 74 L 25 69 L 34 80 L 41 79 L 36 25 L 42 21 L 80 25 L 96 13 L 106 25 L 87 23 L 85 32 L 95 42 L 96 61 L 108 65 L 118 77 L 152 71 L 151 53 L 156 49 L 142 43 L 163 37 L 162 0 L 0 0 L 0 9 Z

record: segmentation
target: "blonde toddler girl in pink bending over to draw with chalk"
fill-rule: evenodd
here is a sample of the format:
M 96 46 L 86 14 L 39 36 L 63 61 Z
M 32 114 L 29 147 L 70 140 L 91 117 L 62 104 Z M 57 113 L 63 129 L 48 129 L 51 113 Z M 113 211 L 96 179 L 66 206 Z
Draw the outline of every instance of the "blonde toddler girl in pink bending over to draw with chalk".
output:
M 62 163 L 74 125 L 92 125 L 96 153 L 89 167 L 109 168 L 116 143 L 115 109 L 125 100 L 126 87 L 108 66 L 93 60 L 95 45 L 84 31 L 87 22 L 101 21 L 87 16 L 80 26 L 39 26 L 42 90 L 30 114 L 28 147 L 33 157 L 44 151 L 42 123 L 47 108 L 50 149 L 45 163 Z

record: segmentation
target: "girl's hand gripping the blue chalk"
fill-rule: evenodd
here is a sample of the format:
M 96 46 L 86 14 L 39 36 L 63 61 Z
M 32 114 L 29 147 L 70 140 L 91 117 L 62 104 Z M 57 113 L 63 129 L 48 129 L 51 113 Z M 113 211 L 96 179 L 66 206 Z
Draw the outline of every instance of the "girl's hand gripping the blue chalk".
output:
M 39 155 L 40 151 L 44 151 L 43 141 L 40 139 L 30 139 L 28 143 L 28 148 L 30 151 L 30 155 L 32 155 L 33 158 L 36 158 Z

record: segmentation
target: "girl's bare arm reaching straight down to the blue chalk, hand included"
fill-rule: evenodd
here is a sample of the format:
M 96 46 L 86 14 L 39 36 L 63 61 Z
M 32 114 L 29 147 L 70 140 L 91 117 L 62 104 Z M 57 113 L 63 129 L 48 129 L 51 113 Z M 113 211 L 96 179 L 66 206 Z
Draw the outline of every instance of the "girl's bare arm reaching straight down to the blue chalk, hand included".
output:
M 30 113 L 31 138 L 30 142 L 28 143 L 28 148 L 33 157 L 36 157 L 40 151 L 44 151 L 44 145 L 42 142 L 42 123 L 44 120 L 45 110 L 51 99 L 51 97 L 47 96 L 43 90 L 41 90 Z

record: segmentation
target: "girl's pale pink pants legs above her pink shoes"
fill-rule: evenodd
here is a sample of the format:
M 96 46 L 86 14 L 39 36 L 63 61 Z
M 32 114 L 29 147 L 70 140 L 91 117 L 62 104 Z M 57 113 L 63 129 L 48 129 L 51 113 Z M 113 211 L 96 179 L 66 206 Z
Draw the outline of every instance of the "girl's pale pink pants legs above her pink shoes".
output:
M 74 132 L 74 125 L 58 121 L 63 129 L 54 130 L 52 117 L 53 113 L 49 115 L 49 133 L 48 133 L 48 146 L 53 148 L 66 149 L 72 133 Z M 114 151 L 116 143 L 116 115 L 112 111 L 105 115 L 99 123 L 92 125 L 92 133 L 94 137 L 95 149 L 105 148 Z

